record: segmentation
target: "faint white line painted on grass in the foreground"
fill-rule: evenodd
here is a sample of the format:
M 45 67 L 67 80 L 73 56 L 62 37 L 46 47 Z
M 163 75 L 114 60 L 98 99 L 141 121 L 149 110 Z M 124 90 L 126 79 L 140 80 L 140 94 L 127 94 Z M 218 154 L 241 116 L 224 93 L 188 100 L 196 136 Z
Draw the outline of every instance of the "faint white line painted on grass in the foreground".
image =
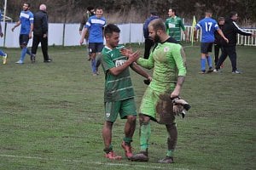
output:
M 0 157 L 12 157 L 12 158 L 21 158 L 21 159 L 34 159 L 34 160 L 44 160 L 44 161 L 67 161 L 74 163 L 84 163 L 84 164 L 95 164 L 95 165 L 105 165 L 111 167 L 143 167 L 147 169 L 170 169 L 167 167 L 152 167 L 152 166 L 143 166 L 143 165 L 134 165 L 128 163 L 104 163 L 101 161 L 79 161 L 79 160 L 67 160 L 67 159 L 49 159 L 39 156 L 12 156 L 12 155 L 0 155 Z M 189 170 L 186 168 L 172 168 L 172 170 Z

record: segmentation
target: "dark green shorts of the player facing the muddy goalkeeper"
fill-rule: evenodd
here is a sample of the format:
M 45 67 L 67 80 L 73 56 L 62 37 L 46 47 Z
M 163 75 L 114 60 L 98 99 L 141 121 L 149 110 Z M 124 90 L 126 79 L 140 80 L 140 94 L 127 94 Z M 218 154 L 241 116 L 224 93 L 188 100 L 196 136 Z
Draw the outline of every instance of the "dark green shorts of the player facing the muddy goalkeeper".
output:
M 105 102 L 106 121 L 115 122 L 118 115 L 121 119 L 125 119 L 127 116 L 137 116 L 134 98 L 113 102 Z

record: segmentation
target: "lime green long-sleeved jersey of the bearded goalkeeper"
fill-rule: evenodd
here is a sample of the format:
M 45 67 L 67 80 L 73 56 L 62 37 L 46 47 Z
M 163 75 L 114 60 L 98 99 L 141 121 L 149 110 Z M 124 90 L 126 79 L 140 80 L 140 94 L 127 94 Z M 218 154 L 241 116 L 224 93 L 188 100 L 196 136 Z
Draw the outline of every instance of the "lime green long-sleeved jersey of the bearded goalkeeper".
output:
M 162 93 L 173 90 L 177 77 L 186 76 L 185 56 L 180 44 L 170 42 L 158 43 L 148 59 L 140 58 L 137 64 L 147 69 L 153 69 L 153 79 L 149 88 Z

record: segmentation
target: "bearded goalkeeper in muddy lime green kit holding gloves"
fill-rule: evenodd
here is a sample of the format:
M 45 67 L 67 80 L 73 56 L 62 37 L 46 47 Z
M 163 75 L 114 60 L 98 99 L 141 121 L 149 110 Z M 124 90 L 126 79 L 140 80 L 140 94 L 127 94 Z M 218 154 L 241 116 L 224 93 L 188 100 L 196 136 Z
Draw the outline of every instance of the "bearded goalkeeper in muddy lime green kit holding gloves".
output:
M 139 111 L 140 152 L 131 156 L 131 161 L 148 161 L 148 140 L 150 120 L 166 125 L 167 152 L 159 162 L 172 163 L 177 144 L 175 116 L 183 111 L 180 105 L 172 105 L 179 94 L 186 75 L 185 54 L 181 45 L 167 35 L 165 23 L 152 20 L 148 25 L 149 37 L 155 46 L 148 59 L 137 59 L 137 65 L 154 69 L 152 81 L 146 89 Z M 126 56 L 131 53 L 123 50 Z

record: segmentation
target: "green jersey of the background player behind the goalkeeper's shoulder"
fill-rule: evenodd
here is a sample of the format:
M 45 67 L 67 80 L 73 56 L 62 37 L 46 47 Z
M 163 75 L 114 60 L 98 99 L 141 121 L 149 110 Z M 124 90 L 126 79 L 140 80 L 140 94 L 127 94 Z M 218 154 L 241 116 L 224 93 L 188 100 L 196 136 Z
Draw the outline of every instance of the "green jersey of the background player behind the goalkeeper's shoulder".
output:
M 175 16 L 166 20 L 166 32 L 177 41 L 181 41 L 181 29 L 186 30 L 180 17 Z

